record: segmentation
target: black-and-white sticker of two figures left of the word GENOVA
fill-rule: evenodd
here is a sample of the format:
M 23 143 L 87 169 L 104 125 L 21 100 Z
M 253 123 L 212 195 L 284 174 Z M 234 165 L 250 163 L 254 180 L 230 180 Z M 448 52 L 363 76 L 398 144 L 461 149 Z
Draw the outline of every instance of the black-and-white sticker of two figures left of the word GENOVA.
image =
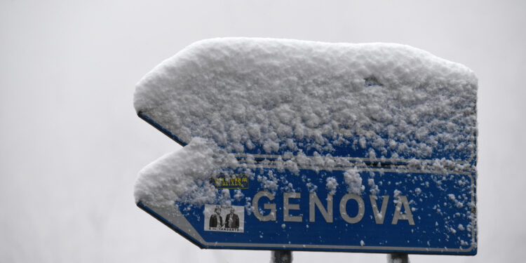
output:
M 205 205 L 205 231 L 243 233 L 245 207 L 241 205 Z

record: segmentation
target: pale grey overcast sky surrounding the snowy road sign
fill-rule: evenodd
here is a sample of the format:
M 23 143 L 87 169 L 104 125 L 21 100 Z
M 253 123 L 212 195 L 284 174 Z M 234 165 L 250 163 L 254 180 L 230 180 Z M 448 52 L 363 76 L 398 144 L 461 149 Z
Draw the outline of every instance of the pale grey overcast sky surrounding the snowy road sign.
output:
M 137 172 L 180 148 L 135 115 L 135 83 L 218 36 L 404 43 L 473 69 L 478 255 L 410 259 L 522 261 L 526 2 L 319 2 L 0 1 L 0 261 L 269 262 L 266 251 L 200 250 L 133 199 Z

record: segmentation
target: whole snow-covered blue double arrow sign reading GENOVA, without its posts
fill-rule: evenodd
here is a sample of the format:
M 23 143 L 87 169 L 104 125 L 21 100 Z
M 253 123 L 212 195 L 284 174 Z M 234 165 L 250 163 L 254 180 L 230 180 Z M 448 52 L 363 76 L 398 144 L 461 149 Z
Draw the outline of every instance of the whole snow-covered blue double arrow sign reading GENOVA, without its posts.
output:
M 137 84 L 184 147 L 135 201 L 201 248 L 475 255 L 476 92 L 409 46 L 199 41 Z

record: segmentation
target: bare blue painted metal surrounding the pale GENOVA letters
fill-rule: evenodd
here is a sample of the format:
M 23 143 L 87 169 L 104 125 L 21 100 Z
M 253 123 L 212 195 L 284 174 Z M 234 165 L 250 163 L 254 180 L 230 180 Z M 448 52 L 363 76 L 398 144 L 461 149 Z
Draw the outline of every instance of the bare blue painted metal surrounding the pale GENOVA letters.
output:
M 146 115 L 140 114 L 140 116 L 180 144 L 185 144 Z M 313 154 L 314 149 L 309 148 L 309 142 L 303 145 L 303 152 L 307 156 Z M 210 211 L 207 214 L 203 205 L 174 203 L 173 208 L 151 208 L 144 203 L 137 205 L 201 248 L 476 255 L 476 172 L 470 168 L 461 171 L 416 169 L 408 165 L 410 160 L 404 159 L 411 156 L 373 161 L 363 158 L 365 150 L 356 147 L 356 144 L 336 147 L 330 151 L 332 156 L 358 157 L 353 161 L 360 162 L 356 171 L 360 174 L 365 189 L 358 194 L 364 207 L 363 217 L 358 220 L 356 198 L 349 199 L 344 203 L 344 207 L 340 205 L 342 198 L 349 192 L 344 180 L 344 172 L 350 167 L 337 166 L 329 170 L 314 166 L 302 167 L 299 173 L 295 174 L 289 170 L 273 167 L 272 161 L 283 154 L 281 152 L 273 156 L 264 156 L 261 155 L 261 148 L 256 147 L 239 155 L 239 160 L 243 162 L 244 157 L 251 154 L 255 154 L 256 160 L 267 159 L 269 162 L 253 163 L 252 175 L 243 175 L 242 169 L 230 170 L 227 175 L 244 177 L 247 179 L 246 182 L 239 184 L 238 187 L 236 185 L 217 187 L 230 189 L 231 196 L 234 196 L 234 191 L 241 196 L 241 198 L 232 198 L 231 205 L 245 208 L 243 231 L 207 230 L 207 220 L 211 214 Z M 447 149 L 434 152 L 431 159 L 441 159 L 445 156 L 447 159 L 462 160 L 459 163 L 476 163 L 473 152 Z M 268 185 L 264 186 L 264 180 L 269 180 L 269 173 L 276 175 L 277 178 L 274 182 L 275 187 L 271 189 Z M 330 215 L 332 222 L 327 222 L 318 206 L 311 205 L 313 200 L 309 198 L 309 193 L 315 192 L 323 208 L 329 210 L 327 180 L 330 177 L 339 187 L 332 196 L 332 215 Z M 269 200 L 264 196 L 259 202 L 253 203 L 254 197 L 261 191 L 269 191 L 274 199 Z M 287 205 L 284 201 L 285 192 L 301 195 L 300 198 L 288 199 L 289 207 L 292 208 L 288 212 L 284 211 Z M 375 218 L 374 205 L 371 203 L 374 198 L 371 199 L 370 196 L 377 198 L 376 205 L 379 211 L 384 196 L 389 198 L 386 200 L 386 211 L 382 215 L 383 222 Z M 404 200 L 407 200 L 406 203 L 403 202 Z M 215 202 L 215 204 L 219 203 L 220 200 Z M 275 220 L 262 221 L 255 216 L 255 213 L 250 212 L 257 209 L 263 216 L 269 215 L 271 210 L 265 209 L 264 203 L 275 205 Z M 294 209 L 295 205 L 298 205 L 299 209 Z M 398 212 L 397 205 L 401 208 Z M 407 208 L 410 211 L 407 211 Z M 176 210 L 191 227 L 177 226 L 177 222 L 180 221 L 165 216 L 172 215 Z M 310 218 L 311 210 L 314 211 L 316 218 L 313 222 Z M 358 221 L 344 220 L 342 211 Z M 393 220 L 397 213 L 405 219 L 399 219 L 398 222 Z M 299 222 L 287 221 L 285 214 L 299 218 Z M 410 215 L 412 220 L 407 219 Z M 193 231 L 188 230 L 191 228 Z

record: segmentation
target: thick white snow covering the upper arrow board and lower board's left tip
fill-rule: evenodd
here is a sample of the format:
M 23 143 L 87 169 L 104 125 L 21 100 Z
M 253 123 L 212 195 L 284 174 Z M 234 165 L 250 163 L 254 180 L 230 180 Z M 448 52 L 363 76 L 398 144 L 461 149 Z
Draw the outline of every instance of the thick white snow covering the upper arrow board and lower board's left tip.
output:
M 467 67 L 399 44 L 198 41 L 137 84 L 137 112 L 188 145 L 144 168 L 135 198 L 203 204 L 219 193 L 206 179 L 239 165 L 229 153 L 253 154 L 258 146 L 258 154 L 291 156 L 276 163 L 295 174 L 306 163 L 330 170 L 338 147 L 363 149 L 370 159 L 474 153 L 476 90 Z M 409 165 L 469 166 L 413 160 Z M 356 168 L 344 177 L 349 191 L 363 191 Z M 280 179 L 257 180 L 276 191 Z M 377 194 L 374 180 L 367 183 Z M 328 189 L 336 186 L 327 181 Z

